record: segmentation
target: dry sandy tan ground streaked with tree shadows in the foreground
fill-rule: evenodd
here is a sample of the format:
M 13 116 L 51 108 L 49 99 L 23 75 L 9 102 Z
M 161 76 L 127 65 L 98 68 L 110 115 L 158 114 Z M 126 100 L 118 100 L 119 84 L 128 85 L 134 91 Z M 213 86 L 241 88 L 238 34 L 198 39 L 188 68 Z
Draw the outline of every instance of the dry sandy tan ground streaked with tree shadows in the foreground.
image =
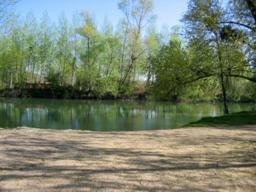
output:
M 256 191 L 256 126 L 1 129 L 0 191 Z

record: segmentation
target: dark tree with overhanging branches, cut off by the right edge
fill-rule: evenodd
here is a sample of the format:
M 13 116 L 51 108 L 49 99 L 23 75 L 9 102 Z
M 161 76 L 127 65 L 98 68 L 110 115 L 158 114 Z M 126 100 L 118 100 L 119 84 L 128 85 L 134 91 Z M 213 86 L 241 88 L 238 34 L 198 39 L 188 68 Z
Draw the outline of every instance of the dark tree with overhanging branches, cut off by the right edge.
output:
M 251 74 L 256 68 L 256 2 L 252 0 L 229 0 L 227 13 L 220 21 L 223 25 L 223 36 L 229 40 L 242 42 Z M 248 79 L 248 76 L 235 77 Z M 256 78 L 248 79 L 256 82 Z

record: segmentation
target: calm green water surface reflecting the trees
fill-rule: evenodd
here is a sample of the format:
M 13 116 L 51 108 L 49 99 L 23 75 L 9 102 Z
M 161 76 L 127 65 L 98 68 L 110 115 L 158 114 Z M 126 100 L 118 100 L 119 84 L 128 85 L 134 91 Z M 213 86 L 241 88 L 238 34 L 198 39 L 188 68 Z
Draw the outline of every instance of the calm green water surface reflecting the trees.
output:
M 256 104 L 231 103 L 229 111 L 253 107 Z M 172 129 L 221 114 L 222 103 L 0 98 L 0 127 L 140 131 Z

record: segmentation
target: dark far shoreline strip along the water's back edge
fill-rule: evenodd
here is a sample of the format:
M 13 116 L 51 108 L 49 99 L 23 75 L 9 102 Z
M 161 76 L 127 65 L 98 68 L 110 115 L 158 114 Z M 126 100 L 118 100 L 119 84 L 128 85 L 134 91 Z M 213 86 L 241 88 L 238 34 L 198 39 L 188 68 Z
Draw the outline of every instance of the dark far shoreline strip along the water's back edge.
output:
M 147 92 L 132 91 L 129 94 L 111 92 L 98 93 L 96 91 L 80 91 L 70 86 L 59 86 L 57 89 L 0 89 L 0 98 L 32 98 L 32 99 L 85 99 L 85 100 L 123 100 L 123 101 L 154 101 L 149 99 Z M 165 101 L 165 100 L 164 100 Z M 186 103 L 223 103 L 221 99 L 203 100 L 203 99 L 188 99 L 180 97 L 177 99 L 169 99 L 171 102 L 186 102 Z M 242 101 L 227 101 L 227 103 L 256 103 L 255 100 Z

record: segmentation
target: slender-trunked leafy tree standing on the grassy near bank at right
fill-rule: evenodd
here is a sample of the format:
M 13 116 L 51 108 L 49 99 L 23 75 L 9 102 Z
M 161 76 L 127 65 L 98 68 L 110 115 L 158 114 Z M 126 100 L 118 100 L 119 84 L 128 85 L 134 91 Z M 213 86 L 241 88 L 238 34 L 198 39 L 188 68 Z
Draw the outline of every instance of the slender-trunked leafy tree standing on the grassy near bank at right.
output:
M 221 20 L 225 12 L 218 0 L 191 0 L 182 21 L 194 59 L 189 66 L 192 81 L 216 76 L 220 80 L 225 113 L 227 107 L 227 82 L 230 77 L 244 78 L 256 82 L 251 68 L 246 63 L 243 46 L 236 38 L 223 38 L 227 25 Z M 208 61 L 208 58 L 211 58 Z M 234 59 L 236 58 L 236 59 Z M 208 61 L 208 62 L 204 62 Z

